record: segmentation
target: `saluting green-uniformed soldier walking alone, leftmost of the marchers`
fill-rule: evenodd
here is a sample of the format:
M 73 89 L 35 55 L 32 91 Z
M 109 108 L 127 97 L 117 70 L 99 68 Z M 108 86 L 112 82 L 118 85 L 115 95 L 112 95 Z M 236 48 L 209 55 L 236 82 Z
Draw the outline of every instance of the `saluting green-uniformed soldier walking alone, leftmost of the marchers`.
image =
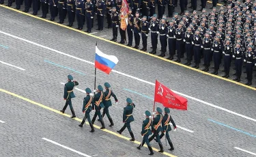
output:
M 74 117 L 76 117 L 76 114 L 74 113 L 71 99 L 76 97 L 76 96 L 74 96 L 73 89 L 76 85 L 79 85 L 79 83 L 76 81 L 72 81 L 72 80 L 73 80 L 73 77 L 69 74 L 68 75 L 68 83 L 65 84 L 64 96 L 63 96 L 64 100 L 66 100 L 66 104 L 63 107 L 63 109 L 61 110 L 61 113 L 65 113 L 65 110 L 67 109 L 67 106 L 69 105 L 71 113 L 72 113 L 72 118 L 74 118 Z

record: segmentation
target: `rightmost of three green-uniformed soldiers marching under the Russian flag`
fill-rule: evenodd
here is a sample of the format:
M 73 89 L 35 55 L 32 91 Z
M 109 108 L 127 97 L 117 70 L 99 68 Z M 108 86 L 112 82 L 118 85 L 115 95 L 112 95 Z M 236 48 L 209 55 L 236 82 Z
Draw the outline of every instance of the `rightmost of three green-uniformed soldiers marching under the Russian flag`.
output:
M 103 109 L 102 118 L 106 114 L 106 116 L 109 119 L 109 122 L 111 123 L 110 126 L 113 126 L 114 125 L 113 119 L 109 115 L 109 106 L 112 106 L 111 96 L 113 96 L 113 98 L 115 99 L 115 102 L 118 102 L 118 100 L 115 94 L 113 93 L 113 91 L 109 89 L 109 87 L 111 87 L 109 83 L 104 83 L 104 86 L 106 87 L 106 91 L 104 92 L 104 99 L 103 99 L 103 104 L 105 108 Z

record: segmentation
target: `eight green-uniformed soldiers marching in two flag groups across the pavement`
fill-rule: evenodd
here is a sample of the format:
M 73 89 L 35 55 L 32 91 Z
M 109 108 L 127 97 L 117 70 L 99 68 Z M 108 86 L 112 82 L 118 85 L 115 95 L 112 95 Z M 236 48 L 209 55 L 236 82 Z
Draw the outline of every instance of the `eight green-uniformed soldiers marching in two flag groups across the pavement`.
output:
M 70 106 L 70 110 L 72 113 L 72 117 L 76 117 L 74 113 L 74 109 L 72 107 L 72 98 L 75 98 L 76 96 L 74 95 L 74 88 L 76 85 L 79 85 L 77 81 L 73 80 L 73 77 L 71 75 L 68 75 L 68 83 L 65 84 L 64 87 L 64 95 L 63 98 L 66 100 L 65 106 L 63 106 L 63 109 L 61 110 L 61 113 L 65 113 L 67 106 Z M 110 127 L 114 125 L 113 119 L 109 115 L 109 107 L 112 106 L 111 102 L 111 96 L 115 99 L 115 103 L 117 104 L 118 100 L 113 91 L 111 90 L 111 85 L 109 83 L 104 83 L 105 91 L 101 85 L 98 85 L 97 90 L 94 89 L 94 94 L 91 94 L 92 91 L 89 88 L 85 89 L 86 96 L 83 99 L 83 113 L 85 114 L 83 121 L 81 124 L 79 124 L 80 127 L 83 127 L 83 124 L 85 124 L 85 120 L 89 122 L 89 126 L 91 127 L 90 132 L 94 132 L 94 122 L 96 121 L 96 117 L 98 117 L 98 121 L 101 123 L 102 127 L 100 129 L 104 129 L 104 121 L 103 117 L 106 115 L 109 119 L 110 122 Z M 122 132 L 127 128 L 130 136 L 132 139 L 130 141 L 135 141 L 134 134 L 132 132 L 132 129 L 130 127 L 130 123 L 134 122 L 134 117 L 132 116 L 132 112 L 135 108 L 134 102 L 132 102 L 132 99 L 127 98 L 126 99 L 126 106 L 124 107 L 124 112 L 123 112 L 123 123 L 124 126 L 120 129 L 117 130 L 119 134 L 122 134 Z M 94 117 L 91 119 L 90 117 L 90 112 L 92 110 L 95 110 Z M 102 111 L 103 110 L 103 111 Z M 102 113 L 101 113 L 102 111 Z M 141 136 L 142 136 L 142 143 L 137 147 L 137 149 L 141 149 L 143 145 L 146 143 L 148 149 L 150 149 L 150 154 L 153 155 L 153 149 L 150 145 L 150 141 L 154 139 L 159 147 L 160 151 L 159 152 L 164 152 L 162 143 L 160 139 L 165 136 L 165 140 L 168 141 L 170 145 L 169 150 L 173 150 L 173 143 L 171 142 L 169 132 L 171 131 L 171 126 L 170 124 L 173 125 L 174 131 L 176 130 L 176 125 L 175 122 L 173 121 L 171 115 L 169 115 L 170 110 L 169 108 L 165 108 L 165 113 L 162 115 L 162 109 L 159 107 L 156 108 L 156 112 L 150 113 L 150 111 L 145 111 L 145 120 L 143 120 L 142 123 L 142 129 L 141 129 Z M 153 134 L 153 135 L 152 135 Z M 151 137 L 149 137 L 152 135 Z

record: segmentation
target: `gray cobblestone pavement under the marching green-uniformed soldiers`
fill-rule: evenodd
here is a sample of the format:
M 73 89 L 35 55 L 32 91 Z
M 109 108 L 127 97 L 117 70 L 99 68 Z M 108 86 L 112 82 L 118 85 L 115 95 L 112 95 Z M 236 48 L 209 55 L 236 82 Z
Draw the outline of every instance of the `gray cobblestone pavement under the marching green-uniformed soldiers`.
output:
M 102 52 L 117 56 L 119 63 L 115 70 L 118 72 L 124 72 L 151 83 L 158 79 L 167 87 L 182 94 L 256 119 L 255 91 L 251 89 L 3 8 L 0 9 L 0 19 L 4 21 L 0 24 L 0 31 L 91 62 L 94 62 L 94 45 L 97 41 L 98 48 Z M 8 49 L 0 48 L 0 60 L 25 69 L 25 71 L 21 71 L 0 64 L 0 74 L 5 78 L 4 83 L 1 83 L 1 89 L 59 110 L 64 104 L 63 85 L 60 83 L 66 82 L 68 74 L 72 74 L 79 81 L 79 89 L 93 88 L 94 86 L 94 66 L 89 63 L 14 39 L 3 35 L 3 33 L 0 33 L 0 44 L 9 47 Z M 45 60 L 51 61 L 55 65 Z M 83 74 L 61 68 L 56 66 L 57 64 Z M 98 71 L 96 83 L 102 85 L 105 81 L 111 83 L 113 91 L 119 99 L 119 104 L 111 107 L 111 116 L 115 126 L 106 128 L 115 132 L 122 127 L 122 109 L 126 98 L 131 97 L 137 104 L 134 109 L 135 122 L 132 122 L 131 126 L 135 138 L 137 141 L 141 141 L 143 113 L 145 110 L 152 111 L 153 101 L 150 98 L 154 98 L 154 85 L 128 78 L 116 72 L 106 75 Z M 150 98 L 130 93 L 124 89 L 130 89 Z M 89 126 L 81 129 L 78 126 L 79 122 L 75 120 L 8 94 L 0 93 L 4 104 L 0 110 L 0 120 L 5 122 L 5 124 L 0 124 L 0 152 L 3 156 L 79 156 L 42 140 L 42 137 L 89 156 L 95 154 L 114 156 L 111 155 L 111 151 L 119 151 L 120 154 L 125 152 L 125 156 L 147 156 L 148 150 L 145 147 L 142 151 L 138 151 L 135 143 L 98 129 L 94 135 L 91 135 Z M 76 115 L 82 118 L 81 107 L 84 94 L 80 91 L 75 91 L 75 94 L 76 98 L 72 101 L 74 109 Z M 69 109 L 66 112 L 70 114 Z M 233 149 L 233 147 L 256 152 L 256 142 L 253 137 L 256 135 L 256 124 L 252 120 L 227 113 L 190 98 L 188 98 L 188 111 L 171 110 L 171 115 L 178 126 L 194 131 L 192 133 L 178 128 L 177 132 L 171 132 L 175 150 L 169 152 L 169 146 L 165 146 L 165 151 L 175 156 L 250 156 Z M 210 120 L 229 127 L 221 126 Z M 108 126 L 109 122 L 106 117 L 104 122 Z M 96 124 L 100 125 L 98 122 Z M 233 130 L 231 127 L 237 130 Z M 127 130 L 124 131 L 124 136 L 130 138 Z M 164 139 L 162 139 L 162 143 L 165 143 Z M 158 148 L 153 141 L 152 145 Z M 154 156 L 162 156 L 162 154 L 155 152 Z

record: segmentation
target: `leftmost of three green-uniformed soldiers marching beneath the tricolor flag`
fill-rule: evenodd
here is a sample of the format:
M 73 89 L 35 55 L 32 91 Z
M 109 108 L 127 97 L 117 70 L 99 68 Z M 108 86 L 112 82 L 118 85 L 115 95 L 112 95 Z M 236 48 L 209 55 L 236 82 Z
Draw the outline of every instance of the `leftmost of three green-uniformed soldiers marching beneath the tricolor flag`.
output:
M 94 132 L 94 125 L 91 124 L 91 117 L 90 117 L 90 112 L 92 110 L 92 107 L 91 107 L 91 103 L 92 103 L 92 96 L 90 96 L 91 94 L 91 89 L 87 88 L 85 89 L 85 92 L 86 92 L 86 97 L 83 98 L 83 113 L 85 113 L 85 117 L 83 117 L 83 121 L 81 122 L 81 124 L 79 124 L 80 127 L 83 127 L 83 124 L 85 124 L 85 120 L 88 119 L 88 122 L 89 122 L 89 125 L 91 127 L 91 130 L 90 132 Z

